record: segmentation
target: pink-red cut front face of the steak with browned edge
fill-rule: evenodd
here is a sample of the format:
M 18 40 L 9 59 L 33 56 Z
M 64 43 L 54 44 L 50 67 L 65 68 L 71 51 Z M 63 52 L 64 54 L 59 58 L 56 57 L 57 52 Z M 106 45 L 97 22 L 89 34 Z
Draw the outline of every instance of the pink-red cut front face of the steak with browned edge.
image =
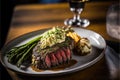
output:
M 59 66 L 61 64 L 67 64 L 71 60 L 72 52 L 70 48 L 61 48 L 55 52 L 49 53 L 45 58 L 39 56 L 39 60 L 35 55 L 34 67 L 38 69 L 50 69 L 52 67 Z

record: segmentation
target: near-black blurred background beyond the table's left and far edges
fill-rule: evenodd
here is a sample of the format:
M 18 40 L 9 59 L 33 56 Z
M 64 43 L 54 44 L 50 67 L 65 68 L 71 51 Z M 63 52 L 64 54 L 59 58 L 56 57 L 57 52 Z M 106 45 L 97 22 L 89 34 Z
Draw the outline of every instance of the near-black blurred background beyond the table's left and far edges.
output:
M 119 0 L 90 0 L 90 1 L 119 1 Z M 22 4 L 54 4 L 67 0 L 0 0 L 0 49 L 3 47 L 10 27 L 13 9 Z M 12 80 L 0 63 L 0 80 Z M 4 77 L 4 78 L 2 78 Z

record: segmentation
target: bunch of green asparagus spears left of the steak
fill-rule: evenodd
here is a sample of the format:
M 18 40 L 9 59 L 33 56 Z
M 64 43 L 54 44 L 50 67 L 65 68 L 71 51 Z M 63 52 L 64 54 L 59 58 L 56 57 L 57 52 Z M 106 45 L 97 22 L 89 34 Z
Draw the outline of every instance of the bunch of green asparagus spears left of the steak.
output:
M 17 66 L 19 67 L 22 62 L 29 58 L 26 57 L 26 55 L 31 56 L 30 51 L 37 44 L 41 37 L 42 36 L 39 36 L 21 46 L 13 47 L 9 52 L 7 52 L 8 61 L 12 64 L 17 64 Z

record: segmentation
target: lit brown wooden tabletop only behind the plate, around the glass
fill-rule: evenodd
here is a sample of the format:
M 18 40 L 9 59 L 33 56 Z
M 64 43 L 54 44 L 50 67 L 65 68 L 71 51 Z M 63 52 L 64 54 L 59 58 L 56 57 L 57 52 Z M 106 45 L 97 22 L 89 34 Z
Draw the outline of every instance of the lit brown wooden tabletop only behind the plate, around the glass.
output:
M 113 3 L 115 2 L 86 3 L 81 17 L 90 20 L 91 24 L 86 29 L 99 33 L 106 40 L 118 41 L 111 38 L 106 32 L 107 9 Z M 50 28 L 57 25 L 64 26 L 64 20 L 71 17 L 73 17 L 73 13 L 70 12 L 67 3 L 17 6 L 14 9 L 7 42 L 35 30 Z

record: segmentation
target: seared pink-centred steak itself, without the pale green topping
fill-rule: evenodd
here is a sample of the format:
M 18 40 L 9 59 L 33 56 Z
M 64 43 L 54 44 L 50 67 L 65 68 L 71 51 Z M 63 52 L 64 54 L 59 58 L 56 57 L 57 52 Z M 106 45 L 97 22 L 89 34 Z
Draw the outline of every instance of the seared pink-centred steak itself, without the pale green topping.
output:
M 69 38 L 71 39 L 71 38 Z M 71 60 L 72 48 L 74 41 L 71 39 L 53 47 L 47 47 L 40 52 L 38 44 L 33 49 L 32 64 L 38 69 L 48 69 L 59 66 L 60 64 L 68 63 Z

